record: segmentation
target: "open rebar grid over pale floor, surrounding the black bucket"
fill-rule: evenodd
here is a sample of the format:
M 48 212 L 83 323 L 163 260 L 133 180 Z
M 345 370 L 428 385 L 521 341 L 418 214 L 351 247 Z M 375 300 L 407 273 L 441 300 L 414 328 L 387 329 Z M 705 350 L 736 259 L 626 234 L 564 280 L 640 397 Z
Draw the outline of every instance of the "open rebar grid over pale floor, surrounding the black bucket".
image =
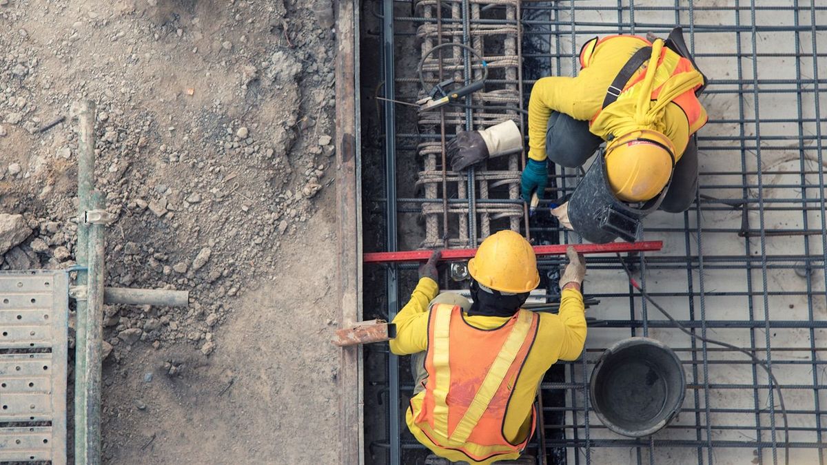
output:
M 533 79 L 571 75 L 579 47 L 592 36 L 666 36 L 672 25 L 684 26 L 687 44 L 710 78 L 701 98 L 710 122 L 699 132 L 700 189 L 682 218 L 656 213 L 645 221 L 644 238 L 662 239 L 665 247 L 638 258 L 640 281 L 688 328 L 756 351 L 771 364 L 785 396 L 791 443 L 784 443 L 777 399 L 761 367 L 672 328 L 609 262 L 591 267 L 586 281 L 586 295 L 600 300 L 589 312 L 598 319 L 590 322 L 588 350 L 579 362 L 566 364 L 565 382 L 542 386 L 544 395 L 566 396 L 565 407 L 547 409 L 547 420 L 562 421 L 547 421 L 544 428 L 547 436 L 562 434 L 545 442 L 572 463 L 783 463 L 785 447 L 791 448 L 791 463 L 824 463 L 819 86 L 827 70 L 817 38 L 825 34 L 827 9 L 796 1 L 719 3 L 527 4 L 525 68 L 534 70 Z M 559 175 L 557 189 L 571 191 L 576 172 Z M 562 236 L 578 241 L 571 232 Z M 677 348 L 686 368 L 680 417 L 648 439 L 611 433 L 588 401 L 591 368 L 602 349 L 629 335 Z

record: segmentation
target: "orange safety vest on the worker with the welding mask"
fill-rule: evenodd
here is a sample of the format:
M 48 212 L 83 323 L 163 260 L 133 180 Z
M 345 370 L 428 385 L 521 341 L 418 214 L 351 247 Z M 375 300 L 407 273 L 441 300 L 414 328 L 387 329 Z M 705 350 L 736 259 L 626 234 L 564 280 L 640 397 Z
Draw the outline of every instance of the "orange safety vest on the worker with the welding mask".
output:
M 602 39 L 598 39 L 595 37 L 590 41 L 586 42 L 580 50 L 580 65 L 581 68 L 586 68 L 591 64 L 592 55 L 594 55 L 595 50 L 597 47 L 600 46 L 601 43 L 605 41 L 610 41 L 615 37 L 620 36 L 606 36 Z M 629 36 L 626 36 L 629 37 Z M 644 46 L 652 46 L 652 42 L 647 41 L 643 37 L 640 36 L 632 36 L 636 39 L 639 39 Z M 695 67 L 692 66 L 692 62 L 681 55 L 678 55 L 676 51 L 668 48 L 663 47 L 661 50 L 660 59 L 657 61 L 657 74 L 655 74 L 655 84 L 653 85 L 653 91 L 651 99 L 654 100 L 657 98 L 657 95 L 661 92 L 661 88 L 663 83 L 666 82 L 667 79 L 671 78 L 675 74 L 686 73 L 688 71 L 695 70 Z M 643 82 L 643 78 L 646 77 L 645 69 L 641 70 L 633 76 L 632 79 L 629 79 L 629 82 L 626 83 L 624 86 L 623 91 L 618 96 L 617 101 L 622 98 L 629 98 L 633 91 L 632 89 L 634 86 Z M 701 127 L 706 124 L 708 117 L 704 112 L 704 109 L 700 105 L 700 101 L 698 100 L 695 91 L 700 88 L 700 84 L 693 89 L 689 89 L 684 93 L 681 93 L 676 98 L 672 99 L 672 103 L 675 103 L 678 107 L 683 110 L 683 113 L 686 114 L 686 120 L 689 122 L 689 135 L 695 134 Z M 603 111 L 603 108 L 595 113 L 595 116 L 591 118 L 590 122 L 594 122 L 600 112 Z

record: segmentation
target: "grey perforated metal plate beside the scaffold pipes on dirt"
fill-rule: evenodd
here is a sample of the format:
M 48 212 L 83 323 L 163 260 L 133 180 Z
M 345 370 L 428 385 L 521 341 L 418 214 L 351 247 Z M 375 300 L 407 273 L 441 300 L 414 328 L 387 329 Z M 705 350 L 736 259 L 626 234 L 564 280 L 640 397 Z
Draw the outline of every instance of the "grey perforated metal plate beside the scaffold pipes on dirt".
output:
M 0 463 L 66 463 L 68 305 L 63 271 L 0 272 Z

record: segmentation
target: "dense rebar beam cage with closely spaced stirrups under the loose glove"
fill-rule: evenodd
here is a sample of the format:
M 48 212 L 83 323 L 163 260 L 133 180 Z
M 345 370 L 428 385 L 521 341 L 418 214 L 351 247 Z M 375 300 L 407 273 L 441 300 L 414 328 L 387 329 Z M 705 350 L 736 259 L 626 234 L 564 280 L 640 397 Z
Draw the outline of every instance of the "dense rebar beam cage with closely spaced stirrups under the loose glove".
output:
M 495 229 L 520 230 L 523 207 L 516 200 L 523 154 L 504 156 L 504 160 L 492 160 L 463 173 L 447 167 L 445 157 L 446 141 L 457 132 L 485 129 L 509 119 L 523 124 L 518 10 L 519 0 L 414 3 L 414 12 L 423 18 L 415 29 L 422 44 L 423 80 L 428 87 L 451 78 L 462 85 L 481 79 L 481 60 L 485 60 L 490 77 L 503 81 L 486 84 L 485 89 L 468 96 L 465 105 L 449 105 L 418 115 L 418 134 L 409 135 L 417 141 L 415 150 L 422 157 L 423 169 L 418 173 L 417 185 L 423 187 L 426 202 L 441 199 L 440 203 L 421 206 L 425 220 L 423 247 L 476 245 L 490 235 L 492 222 Z M 487 20 L 496 20 L 498 24 L 485 24 Z M 444 44 L 470 46 L 478 56 Z M 437 46 L 442 49 L 433 50 Z M 418 89 L 416 95 L 402 93 L 397 97 L 418 100 L 427 96 L 429 90 Z M 464 205 L 449 205 L 447 200 L 452 198 L 465 199 Z M 514 202 L 477 205 L 479 200 L 485 203 L 487 199 Z

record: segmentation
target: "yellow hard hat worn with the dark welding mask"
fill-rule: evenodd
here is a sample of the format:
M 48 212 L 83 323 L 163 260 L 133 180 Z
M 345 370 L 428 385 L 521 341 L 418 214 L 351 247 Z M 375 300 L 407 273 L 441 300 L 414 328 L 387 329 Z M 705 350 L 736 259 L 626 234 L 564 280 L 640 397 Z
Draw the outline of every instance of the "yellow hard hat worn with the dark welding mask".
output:
M 618 199 L 643 202 L 660 194 L 672 176 L 675 146 L 657 131 L 615 137 L 606 146 L 606 175 Z

